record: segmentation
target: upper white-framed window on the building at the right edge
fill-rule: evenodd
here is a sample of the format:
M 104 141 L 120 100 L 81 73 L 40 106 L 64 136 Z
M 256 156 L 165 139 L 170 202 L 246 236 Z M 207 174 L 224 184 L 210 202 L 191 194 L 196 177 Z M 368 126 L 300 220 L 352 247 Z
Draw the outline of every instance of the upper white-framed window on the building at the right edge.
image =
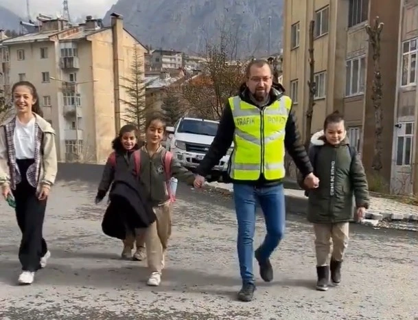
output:
M 417 84 L 417 42 L 418 38 L 402 43 L 401 86 Z

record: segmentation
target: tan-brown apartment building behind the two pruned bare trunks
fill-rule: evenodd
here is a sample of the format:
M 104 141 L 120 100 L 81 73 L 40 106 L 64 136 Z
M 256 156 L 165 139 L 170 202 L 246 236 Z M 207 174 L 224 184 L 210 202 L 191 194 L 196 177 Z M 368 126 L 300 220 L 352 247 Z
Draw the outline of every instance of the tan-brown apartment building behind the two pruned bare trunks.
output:
M 294 101 L 305 135 L 308 103 L 309 25 L 314 27 L 314 81 L 316 82 L 312 133 L 321 130 L 325 115 L 345 114 L 350 142 L 358 148 L 364 167 L 371 171 L 375 139 L 373 54 L 367 23 L 376 16 L 384 23 L 380 67 L 384 82 L 384 150 L 382 175 L 391 181 L 393 113 L 397 101 L 397 60 L 401 0 L 288 0 L 284 5 L 283 86 Z M 416 1 L 415 1 L 416 2 Z

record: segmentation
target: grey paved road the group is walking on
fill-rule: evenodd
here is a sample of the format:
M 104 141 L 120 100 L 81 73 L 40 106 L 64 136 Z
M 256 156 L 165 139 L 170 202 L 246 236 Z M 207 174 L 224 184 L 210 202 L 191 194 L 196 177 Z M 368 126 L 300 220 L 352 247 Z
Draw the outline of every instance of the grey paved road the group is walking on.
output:
M 91 204 L 94 195 L 89 181 L 56 185 L 45 222 L 52 258 L 26 287 L 16 286 L 19 231 L 1 202 L 0 319 L 418 319 L 418 233 L 353 226 L 343 284 L 319 293 L 311 227 L 290 214 L 272 257 L 275 281 L 257 275 L 256 299 L 245 304 L 235 301 L 231 198 L 179 186 L 167 270 L 162 285 L 149 288 L 145 264 L 119 260 L 121 244 L 102 234 L 104 207 Z M 302 211 L 294 199 L 288 207 Z M 263 233 L 260 218 L 257 244 Z

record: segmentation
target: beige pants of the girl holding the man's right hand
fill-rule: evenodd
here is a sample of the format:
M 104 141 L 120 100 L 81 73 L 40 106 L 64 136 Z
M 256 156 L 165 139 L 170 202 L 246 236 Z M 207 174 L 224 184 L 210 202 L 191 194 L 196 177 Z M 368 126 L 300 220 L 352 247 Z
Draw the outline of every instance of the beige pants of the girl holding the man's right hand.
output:
M 170 203 L 154 207 L 154 212 L 156 221 L 146 229 L 145 243 L 148 268 L 151 272 L 161 273 L 168 239 L 172 233 Z

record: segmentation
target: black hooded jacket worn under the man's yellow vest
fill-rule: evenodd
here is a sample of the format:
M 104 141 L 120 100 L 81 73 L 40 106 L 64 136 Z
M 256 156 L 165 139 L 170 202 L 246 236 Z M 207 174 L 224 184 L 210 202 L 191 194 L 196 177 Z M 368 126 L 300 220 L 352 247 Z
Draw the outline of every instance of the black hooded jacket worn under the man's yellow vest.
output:
M 270 91 L 270 102 L 272 104 L 283 94 L 283 87 L 279 84 L 274 84 L 273 87 L 275 90 Z M 242 84 L 240 88 L 240 98 L 249 104 L 253 104 L 250 98 L 250 92 L 246 87 L 246 84 Z M 227 154 L 229 147 L 231 147 L 233 141 L 233 135 L 235 132 L 235 123 L 233 121 L 233 115 L 231 111 L 231 106 L 229 106 L 229 102 L 224 106 L 224 110 L 222 112 L 222 116 L 220 118 L 220 124 L 218 126 L 218 132 L 216 133 L 215 139 L 207 152 L 205 158 L 200 162 L 198 168 L 196 168 L 196 173 L 200 174 L 200 176 L 207 176 L 216 165 L 220 159 Z M 288 122 L 286 123 L 286 135 L 284 144 L 286 150 L 290 157 L 292 157 L 294 163 L 297 165 L 297 168 L 303 174 L 303 176 L 307 176 L 310 174 L 312 170 L 312 165 L 309 161 L 309 157 L 307 156 L 307 152 L 303 143 L 301 141 L 301 136 L 299 135 L 299 131 L 297 130 L 296 124 L 296 117 L 294 115 L 294 111 L 290 111 L 290 115 L 288 117 Z M 275 181 L 267 181 L 264 178 L 264 175 L 261 174 L 258 181 L 232 181 L 233 183 L 245 183 L 245 184 L 253 184 L 253 185 L 277 185 L 282 183 L 280 180 Z

